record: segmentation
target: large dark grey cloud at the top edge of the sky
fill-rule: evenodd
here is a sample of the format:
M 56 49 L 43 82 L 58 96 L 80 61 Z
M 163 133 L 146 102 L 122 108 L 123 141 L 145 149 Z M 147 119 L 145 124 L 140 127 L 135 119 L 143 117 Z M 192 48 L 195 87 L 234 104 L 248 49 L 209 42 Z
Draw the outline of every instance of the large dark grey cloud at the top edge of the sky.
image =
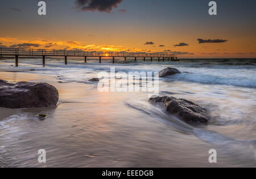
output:
M 110 13 L 122 0 L 76 0 L 76 7 L 81 11 L 100 11 Z

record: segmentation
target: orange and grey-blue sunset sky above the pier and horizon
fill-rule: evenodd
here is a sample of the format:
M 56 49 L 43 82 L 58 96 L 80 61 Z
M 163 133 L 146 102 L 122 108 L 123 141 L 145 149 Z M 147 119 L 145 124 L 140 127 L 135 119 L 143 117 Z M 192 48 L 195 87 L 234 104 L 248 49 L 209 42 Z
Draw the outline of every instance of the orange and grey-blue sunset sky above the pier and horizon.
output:
M 0 47 L 175 53 L 180 58 L 255 58 L 256 1 L 0 1 Z

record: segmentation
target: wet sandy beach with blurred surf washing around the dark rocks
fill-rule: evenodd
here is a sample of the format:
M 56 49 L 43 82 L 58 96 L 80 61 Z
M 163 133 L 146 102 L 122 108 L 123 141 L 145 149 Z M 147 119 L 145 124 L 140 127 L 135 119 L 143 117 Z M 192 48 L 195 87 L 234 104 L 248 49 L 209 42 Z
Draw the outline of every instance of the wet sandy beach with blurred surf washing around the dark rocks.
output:
M 255 166 L 254 60 L 246 65 L 88 61 L 64 65 L 51 59 L 43 68 L 40 58 L 23 59 L 15 68 L 20 72 L 0 72 L 1 80 L 47 82 L 59 91 L 57 107 L 0 109 L 0 167 Z M 11 64 L 2 60 L 0 68 Z M 179 69 L 183 73 L 160 78 L 159 95 L 199 104 L 210 112 L 209 124 L 182 122 L 148 103 L 148 93 L 100 92 L 97 83 L 88 82 L 112 66 L 117 72 Z M 39 149 L 47 151 L 46 164 L 38 163 Z M 217 164 L 208 161 L 210 149 L 218 152 Z

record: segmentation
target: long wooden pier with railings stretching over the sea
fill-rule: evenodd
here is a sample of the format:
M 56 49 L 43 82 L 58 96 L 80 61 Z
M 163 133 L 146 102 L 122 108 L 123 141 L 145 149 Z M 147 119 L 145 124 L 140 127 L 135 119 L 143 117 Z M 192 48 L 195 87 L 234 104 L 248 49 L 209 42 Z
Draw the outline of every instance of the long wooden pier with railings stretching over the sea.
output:
M 15 66 L 19 66 L 19 56 L 42 56 L 43 66 L 46 64 L 46 56 L 48 57 L 64 57 L 65 65 L 68 64 L 68 57 L 84 57 L 84 63 L 87 63 L 88 57 L 98 57 L 99 63 L 102 58 L 111 57 L 112 63 L 115 63 L 115 57 L 123 57 L 137 59 L 150 59 L 154 61 L 178 61 L 176 55 L 159 54 L 159 53 L 123 53 L 123 52 L 88 52 L 88 51 L 64 51 L 64 50 L 48 50 L 48 49 L 21 49 L 21 48 L 0 48 L 0 56 L 15 56 Z

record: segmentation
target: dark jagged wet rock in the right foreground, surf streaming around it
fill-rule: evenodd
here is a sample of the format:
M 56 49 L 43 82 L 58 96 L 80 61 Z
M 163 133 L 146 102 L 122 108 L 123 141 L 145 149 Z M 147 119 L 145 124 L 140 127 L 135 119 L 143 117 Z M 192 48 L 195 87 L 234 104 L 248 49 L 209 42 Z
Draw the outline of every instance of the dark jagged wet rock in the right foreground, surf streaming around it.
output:
M 178 118 L 187 123 L 208 123 L 208 111 L 185 99 L 174 97 L 151 97 L 150 103 L 160 103 L 170 114 L 177 115 Z

